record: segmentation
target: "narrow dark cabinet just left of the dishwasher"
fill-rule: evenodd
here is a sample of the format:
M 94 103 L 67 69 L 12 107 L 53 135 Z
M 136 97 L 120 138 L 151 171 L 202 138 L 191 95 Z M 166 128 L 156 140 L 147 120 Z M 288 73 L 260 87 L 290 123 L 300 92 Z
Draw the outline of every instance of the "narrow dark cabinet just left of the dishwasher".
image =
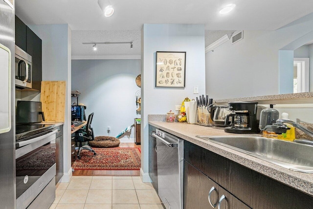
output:
M 155 132 L 156 128 L 149 125 L 149 176 L 157 192 L 156 138 L 152 136 Z

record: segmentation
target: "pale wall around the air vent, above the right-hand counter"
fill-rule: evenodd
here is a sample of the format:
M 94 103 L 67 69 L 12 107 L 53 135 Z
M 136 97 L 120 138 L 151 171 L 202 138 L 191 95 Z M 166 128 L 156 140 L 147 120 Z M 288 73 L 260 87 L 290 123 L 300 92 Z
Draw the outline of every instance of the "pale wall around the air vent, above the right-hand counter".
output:
M 275 31 L 245 30 L 242 41 L 231 45 L 229 40 L 209 51 L 205 54 L 206 93 L 214 99 L 283 93 L 280 82 L 283 85 L 292 73 L 286 73 L 279 62 L 279 50 L 294 50 L 313 40 L 311 31 L 312 14 Z

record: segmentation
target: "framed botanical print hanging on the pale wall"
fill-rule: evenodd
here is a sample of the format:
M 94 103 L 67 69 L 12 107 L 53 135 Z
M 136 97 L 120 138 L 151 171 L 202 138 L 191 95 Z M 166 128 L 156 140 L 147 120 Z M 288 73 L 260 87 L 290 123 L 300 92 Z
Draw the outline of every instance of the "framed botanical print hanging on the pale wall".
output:
M 185 87 L 186 52 L 156 52 L 156 87 Z

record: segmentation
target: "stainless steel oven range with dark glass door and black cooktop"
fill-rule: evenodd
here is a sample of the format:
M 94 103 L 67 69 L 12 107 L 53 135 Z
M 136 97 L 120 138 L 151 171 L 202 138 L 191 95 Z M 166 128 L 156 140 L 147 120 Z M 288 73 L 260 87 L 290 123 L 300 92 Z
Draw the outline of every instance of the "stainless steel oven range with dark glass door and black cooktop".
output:
M 54 125 L 16 125 L 16 208 L 49 208 L 55 199 Z

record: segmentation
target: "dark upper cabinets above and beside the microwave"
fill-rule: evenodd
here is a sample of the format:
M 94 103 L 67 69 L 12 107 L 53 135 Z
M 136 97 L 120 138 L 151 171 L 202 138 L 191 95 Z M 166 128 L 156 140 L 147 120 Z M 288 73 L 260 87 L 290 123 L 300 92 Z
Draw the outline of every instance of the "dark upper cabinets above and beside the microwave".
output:
M 41 90 L 42 40 L 15 16 L 15 45 L 32 57 L 32 89 Z

